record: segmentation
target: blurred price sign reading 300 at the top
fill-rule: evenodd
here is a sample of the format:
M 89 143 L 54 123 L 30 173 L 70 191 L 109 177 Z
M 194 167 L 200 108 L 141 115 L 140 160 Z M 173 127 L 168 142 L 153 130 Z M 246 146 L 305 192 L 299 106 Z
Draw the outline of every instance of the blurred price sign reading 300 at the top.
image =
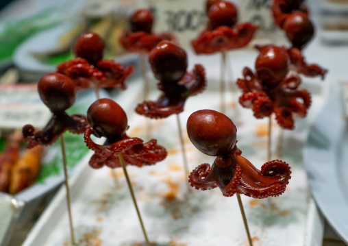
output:
M 206 0 L 149 0 L 156 32 L 173 32 L 185 49 L 206 27 Z

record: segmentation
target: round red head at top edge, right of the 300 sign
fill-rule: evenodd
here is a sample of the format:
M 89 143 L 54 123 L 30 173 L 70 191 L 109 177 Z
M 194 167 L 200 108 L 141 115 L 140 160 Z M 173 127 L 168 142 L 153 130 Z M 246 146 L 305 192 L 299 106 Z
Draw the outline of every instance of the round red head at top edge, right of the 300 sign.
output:
M 234 27 L 238 21 L 237 9 L 229 1 L 216 1 L 208 10 L 208 17 L 212 29 L 226 25 Z

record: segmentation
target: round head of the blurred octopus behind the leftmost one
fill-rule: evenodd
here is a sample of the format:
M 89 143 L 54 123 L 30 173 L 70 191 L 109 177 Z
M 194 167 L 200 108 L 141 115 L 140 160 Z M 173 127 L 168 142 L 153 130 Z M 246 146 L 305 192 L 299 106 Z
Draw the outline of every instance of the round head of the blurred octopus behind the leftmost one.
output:
M 98 34 L 93 32 L 86 32 L 82 34 L 75 42 L 75 56 L 84 58 L 93 65 L 97 64 L 97 62 L 103 59 L 104 51 L 104 40 Z

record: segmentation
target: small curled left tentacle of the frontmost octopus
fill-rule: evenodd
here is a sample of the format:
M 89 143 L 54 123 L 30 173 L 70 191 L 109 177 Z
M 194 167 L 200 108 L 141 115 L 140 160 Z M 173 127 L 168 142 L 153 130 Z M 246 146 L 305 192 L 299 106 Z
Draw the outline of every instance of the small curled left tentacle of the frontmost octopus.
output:
M 190 186 L 195 187 L 196 190 L 210 190 L 216 188 L 217 184 L 214 182 L 207 182 L 205 179 L 210 173 L 210 164 L 204 163 L 199 165 L 195 170 L 193 170 L 188 176 L 188 182 Z

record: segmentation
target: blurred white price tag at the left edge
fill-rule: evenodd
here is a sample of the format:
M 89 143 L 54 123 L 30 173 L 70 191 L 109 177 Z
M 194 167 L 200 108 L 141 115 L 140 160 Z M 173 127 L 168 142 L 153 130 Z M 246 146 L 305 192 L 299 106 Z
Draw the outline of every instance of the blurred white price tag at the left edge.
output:
M 0 86 L 0 128 L 44 127 L 51 112 L 42 103 L 36 84 Z

